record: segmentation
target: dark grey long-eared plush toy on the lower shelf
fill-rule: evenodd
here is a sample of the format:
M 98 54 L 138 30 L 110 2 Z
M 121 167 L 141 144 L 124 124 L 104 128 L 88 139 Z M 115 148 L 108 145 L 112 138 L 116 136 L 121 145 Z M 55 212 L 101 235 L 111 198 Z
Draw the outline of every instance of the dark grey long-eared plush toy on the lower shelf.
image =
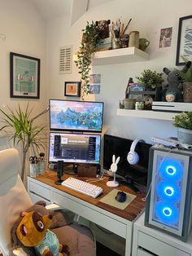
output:
M 181 72 L 186 73 L 190 68 L 191 62 L 188 61 Z M 182 78 L 177 70 L 170 71 L 168 68 L 164 68 L 164 73 L 168 75 L 167 90 L 164 90 L 163 99 L 167 101 L 182 101 Z

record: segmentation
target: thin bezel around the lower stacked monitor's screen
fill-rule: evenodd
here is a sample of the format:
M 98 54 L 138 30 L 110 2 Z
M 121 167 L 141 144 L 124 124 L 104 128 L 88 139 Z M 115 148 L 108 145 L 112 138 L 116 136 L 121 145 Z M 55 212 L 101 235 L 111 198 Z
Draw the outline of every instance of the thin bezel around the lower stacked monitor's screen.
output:
M 58 159 L 55 161 L 50 161 L 50 134 L 60 134 L 60 135 L 89 135 L 89 136 L 98 136 L 99 137 L 99 141 L 100 141 L 100 148 L 99 148 L 99 157 L 98 157 L 98 162 L 87 162 L 87 161 L 64 161 L 63 159 Z M 91 133 L 78 133 L 78 132 L 74 132 L 74 133 L 69 133 L 69 132 L 62 132 L 62 131 L 50 131 L 49 133 L 49 148 L 48 148 L 48 163 L 57 163 L 59 160 L 63 160 L 64 164 L 87 164 L 87 165 L 100 165 L 101 162 L 101 145 L 102 143 L 102 135 L 100 134 L 91 134 Z

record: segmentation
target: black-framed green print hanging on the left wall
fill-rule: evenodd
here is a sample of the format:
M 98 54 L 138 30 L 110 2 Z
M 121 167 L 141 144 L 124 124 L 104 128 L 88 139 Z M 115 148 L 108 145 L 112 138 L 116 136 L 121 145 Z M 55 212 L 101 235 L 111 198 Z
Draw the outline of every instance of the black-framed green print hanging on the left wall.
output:
M 10 53 L 10 97 L 39 99 L 40 59 Z

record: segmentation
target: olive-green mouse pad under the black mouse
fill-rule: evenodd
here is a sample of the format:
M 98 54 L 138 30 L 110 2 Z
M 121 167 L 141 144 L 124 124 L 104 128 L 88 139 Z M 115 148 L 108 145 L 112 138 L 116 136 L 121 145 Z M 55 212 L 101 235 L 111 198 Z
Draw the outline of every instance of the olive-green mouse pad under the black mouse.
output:
M 116 194 L 119 191 L 121 190 L 114 188 L 106 196 L 103 196 L 103 198 L 101 198 L 99 201 L 107 205 L 111 205 L 116 208 L 119 208 L 120 210 L 124 210 L 130 204 L 130 202 L 135 199 L 136 196 L 125 192 L 125 194 L 127 195 L 126 201 L 124 201 L 123 203 L 120 203 L 116 201 Z

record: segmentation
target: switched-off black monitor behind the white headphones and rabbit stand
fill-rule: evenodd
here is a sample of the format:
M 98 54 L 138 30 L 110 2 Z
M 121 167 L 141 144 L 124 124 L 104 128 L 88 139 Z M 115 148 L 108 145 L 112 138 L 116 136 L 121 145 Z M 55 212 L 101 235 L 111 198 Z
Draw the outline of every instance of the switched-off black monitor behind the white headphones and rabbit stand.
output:
M 119 174 L 123 178 L 129 177 L 130 179 L 133 179 L 134 182 L 141 183 L 142 185 L 146 186 L 151 144 L 142 142 L 137 143 L 135 151 L 139 155 L 139 161 L 137 165 L 132 166 L 127 161 L 127 155 L 132 142 L 133 140 L 131 139 L 104 135 L 103 168 L 110 170 L 112 156 L 115 155 L 116 157 L 120 157 L 116 174 Z

